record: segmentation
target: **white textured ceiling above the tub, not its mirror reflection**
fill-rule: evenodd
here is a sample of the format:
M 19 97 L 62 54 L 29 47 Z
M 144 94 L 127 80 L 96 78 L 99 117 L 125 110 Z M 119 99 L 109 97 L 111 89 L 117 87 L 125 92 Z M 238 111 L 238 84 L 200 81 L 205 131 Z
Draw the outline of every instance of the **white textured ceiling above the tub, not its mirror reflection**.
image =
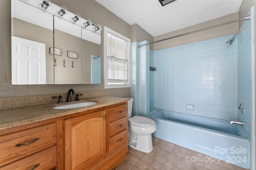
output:
M 238 12 L 242 0 L 96 0 L 130 25 L 153 37 Z M 194 30 L 191 30 L 194 31 Z

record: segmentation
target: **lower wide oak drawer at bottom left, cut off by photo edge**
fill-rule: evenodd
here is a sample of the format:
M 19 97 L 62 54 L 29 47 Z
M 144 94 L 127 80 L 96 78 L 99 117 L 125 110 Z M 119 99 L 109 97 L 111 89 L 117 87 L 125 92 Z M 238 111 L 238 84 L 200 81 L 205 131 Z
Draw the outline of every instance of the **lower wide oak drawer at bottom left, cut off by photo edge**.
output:
M 56 146 L 3 166 L 1 170 L 50 170 L 55 167 Z

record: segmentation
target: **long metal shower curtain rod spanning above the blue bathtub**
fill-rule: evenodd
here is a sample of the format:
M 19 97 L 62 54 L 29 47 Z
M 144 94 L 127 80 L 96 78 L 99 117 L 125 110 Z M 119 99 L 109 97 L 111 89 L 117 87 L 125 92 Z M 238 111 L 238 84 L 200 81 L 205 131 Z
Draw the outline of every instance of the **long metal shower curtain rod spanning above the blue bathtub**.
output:
M 184 34 L 176 35 L 176 36 L 174 36 L 174 37 L 169 37 L 169 38 L 166 38 L 166 39 L 161 39 L 161 40 L 154 41 L 154 42 L 151 42 L 151 43 L 146 43 L 146 44 L 138 45 L 138 48 L 140 48 L 140 47 L 142 47 L 142 46 L 144 46 L 144 45 L 149 45 L 149 44 L 153 44 L 153 43 L 158 43 L 158 42 L 160 42 L 160 41 L 165 41 L 165 40 L 168 40 L 168 39 L 172 39 L 172 38 L 176 38 L 176 37 L 181 37 L 181 36 L 183 36 L 183 35 L 188 35 L 188 34 L 196 33 L 196 32 L 199 32 L 199 31 L 204 31 L 204 30 L 206 30 L 206 29 L 215 28 L 215 27 L 219 27 L 219 26 L 222 26 L 222 25 L 226 25 L 226 24 L 230 24 L 230 23 L 237 22 L 237 21 L 242 21 L 242 20 L 250 20 L 250 16 L 246 16 L 246 17 L 244 17 L 244 18 L 241 18 L 241 19 L 238 19 L 238 20 L 234 20 L 234 21 L 230 21 L 230 22 L 226 22 L 226 23 L 221 23 L 221 24 L 219 24 L 219 25 L 214 25 L 214 26 L 211 26 L 211 27 L 199 29 L 199 30 L 192 31 L 192 32 L 189 32 L 189 33 L 184 33 Z

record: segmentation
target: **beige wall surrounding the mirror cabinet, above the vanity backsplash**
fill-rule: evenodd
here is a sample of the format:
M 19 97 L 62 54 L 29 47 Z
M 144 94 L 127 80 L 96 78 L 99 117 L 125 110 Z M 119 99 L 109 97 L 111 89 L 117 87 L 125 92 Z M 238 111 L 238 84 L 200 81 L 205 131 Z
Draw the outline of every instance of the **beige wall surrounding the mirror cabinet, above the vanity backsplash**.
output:
M 106 25 L 110 29 L 130 38 L 130 25 L 94 0 L 52 0 L 53 3 L 67 6 L 73 13 L 80 13 L 83 18 L 91 19 L 95 24 Z M 62 85 L 12 85 L 11 78 L 11 1 L 0 0 L 0 98 L 53 94 L 68 92 L 73 88 L 77 92 L 103 90 L 102 84 L 62 84 Z M 103 33 L 103 31 L 102 31 Z M 101 55 L 103 56 L 103 36 Z M 102 75 L 104 75 L 102 57 Z M 107 89 L 107 95 L 130 97 L 130 88 Z

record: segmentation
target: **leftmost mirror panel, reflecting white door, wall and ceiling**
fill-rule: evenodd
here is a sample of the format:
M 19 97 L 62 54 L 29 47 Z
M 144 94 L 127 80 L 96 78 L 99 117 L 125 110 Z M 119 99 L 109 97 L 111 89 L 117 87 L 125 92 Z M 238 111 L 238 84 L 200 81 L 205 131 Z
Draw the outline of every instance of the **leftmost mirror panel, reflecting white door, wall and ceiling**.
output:
M 49 54 L 49 47 L 53 47 L 53 16 L 18 0 L 12 0 L 11 15 L 12 40 L 16 37 L 16 43 L 12 44 L 12 57 L 15 55 L 17 58 L 17 43 L 20 43 L 20 53 L 28 50 L 26 46 L 26 44 L 28 44 L 30 45 L 29 47 L 32 47 L 30 51 L 33 54 L 30 54 L 30 56 L 40 56 L 30 57 L 30 59 L 28 59 L 28 56 L 25 57 L 26 59 L 19 56 L 19 59 L 12 61 L 12 71 L 16 71 L 12 72 L 12 84 L 53 84 L 53 55 Z M 18 37 L 23 40 L 21 42 L 18 41 Z M 39 49 L 36 50 L 34 48 L 38 48 L 36 43 L 38 43 L 38 45 L 44 44 L 44 49 L 39 47 Z M 36 64 L 32 58 L 40 59 L 40 62 Z M 19 65 L 15 64 L 17 60 L 20 61 Z M 25 61 L 29 62 L 30 60 L 33 62 L 24 64 L 26 63 Z M 30 67 L 26 68 L 26 66 Z M 27 70 L 26 73 L 24 72 L 25 70 Z

